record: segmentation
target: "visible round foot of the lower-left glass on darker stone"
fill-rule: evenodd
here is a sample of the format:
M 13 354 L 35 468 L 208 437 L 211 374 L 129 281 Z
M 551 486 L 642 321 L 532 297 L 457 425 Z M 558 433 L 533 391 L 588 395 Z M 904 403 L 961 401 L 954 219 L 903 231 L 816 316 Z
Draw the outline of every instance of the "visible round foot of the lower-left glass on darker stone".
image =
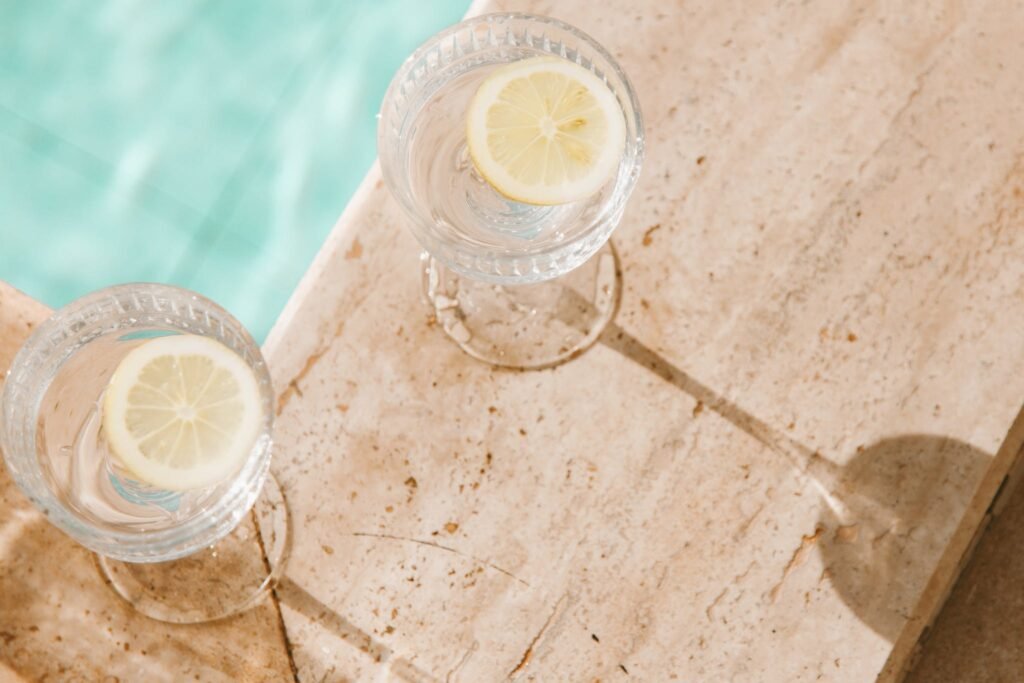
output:
M 252 511 L 226 537 L 170 562 L 122 562 L 101 555 L 114 592 L 151 618 L 199 624 L 238 614 L 276 585 L 285 567 L 288 507 L 268 474 Z

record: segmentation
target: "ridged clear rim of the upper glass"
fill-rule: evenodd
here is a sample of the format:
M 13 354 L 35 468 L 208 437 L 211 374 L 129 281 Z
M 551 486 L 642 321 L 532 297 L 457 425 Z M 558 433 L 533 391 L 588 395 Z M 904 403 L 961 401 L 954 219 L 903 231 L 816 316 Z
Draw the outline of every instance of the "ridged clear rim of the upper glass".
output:
M 444 29 L 441 29 L 426 41 L 424 41 L 419 47 L 417 47 L 412 54 L 410 54 L 395 72 L 388 84 L 388 88 L 385 91 L 384 98 L 381 103 L 380 109 L 380 122 L 377 130 L 377 146 L 378 146 L 378 159 L 380 161 L 381 174 L 384 177 L 385 183 L 391 190 L 391 195 L 398 200 L 399 205 L 407 213 L 407 215 L 412 218 L 417 223 L 424 223 L 424 225 L 432 225 L 431 221 L 426 219 L 423 215 L 421 208 L 418 206 L 416 201 L 411 197 L 406 185 L 408 183 L 398 180 L 399 173 L 396 172 L 391 165 L 388 155 L 382 154 L 385 148 L 385 142 L 387 141 L 387 136 L 390 134 L 389 130 L 385 130 L 388 122 L 388 115 L 396 115 L 397 111 L 397 100 L 400 98 L 400 88 L 402 84 L 408 81 L 409 76 L 413 73 L 417 63 L 425 58 L 432 50 L 437 49 L 440 45 L 444 43 L 445 40 L 451 40 L 453 36 L 459 32 L 465 31 L 468 28 L 475 27 L 477 25 L 494 23 L 494 22 L 524 22 L 528 24 L 537 24 L 541 26 L 551 26 L 559 31 L 563 31 L 570 36 L 577 38 L 581 43 L 585 44 L 589 50 L 592 50 L 600 59 L 604 62 L 600 65 L 601 70 L 604 72 L 610 72 L 614 75 L 614 78 L 622 84 L 621 92 L 615 92 L 616 99 L 623 104 L 623 117 L 627 121 L 627 147 L 624 151 L 623 161 L 620 162 L 620 168 L 616 171 L 616 176 L 623 173 L 623 163 L 627 157 L 630 157 L 629 147 L 632 144 L 634 150 L 632 158 L 630 160 L 630 165 L 626 171 L 627 179 L 625 180 L 624 186 L 621 191 L 615 193 L 612 201 L 606 202 L 606 205 L 601 207 L 599 214 L 590 221 L 590 225 L 580 234 L 566 240 L 565 242 L 548 246 L 544 249 L 539 249 L 537 251 L 530 251 L 528 253 L 522 254 L 525 258 L 538 258 L 544 256 L 550 256 L 551 254 L 562 252 L 564 250 L 570 249 L 574 245 L 586 243 L 589 240 L 593 240 L 594 232 L 601 227 L 607 221 L 614 219 L 616 215 L 620 215 L 626 208 L 633 190 L 636 188 L 637 182 L 640 178 L 640 170 L 643 166 L 644 160 L 644 146 L 645 146 L 645 131 L 644 131 L 644 121 L 643 114 L 640 109 L 640 100 L 637 96 L 636 88 L 633 86 L 633 82 L 630 80 L 626 71 L 618 63 L 618 60 L 605 48 L 600 42 L 593 38 L 590 34 L 586 33 L 582 29 L 579 29 L 571 24 L 567 24 L 561 19 L 546 16 L 543 14 L 532 14 L 528 12 L 489 12 L 486 14 L 479 14 L 469 18 L 465 18 L 457 24 L 453 24 Z M 605 66 L 607 67 L 605 69 Z M 607 76 L 605 80 L 609 80 Z M 618 90 L 613 88 L 613 90 Z M 629 110 L 626 109 L 629 106 Z M 633 132 L 629 132 L 633 128 Z M 617 220 L 615 220 L 617 223 Z M 614 229 L 615 225 L 611 226 L 608 230 L 608 236 L 610 236 L 611 230 Z M 425 240 L 425 236 L 431 234 L 432 230 L 430 227 L 416 227 L 413 232 L 420 244 L 426 249 L 431 255 L 440 258 L 445 265 L 453 268 L 456 271 L 463 272 L 480 280 L 494 280 L 494 282 L 505 282 L 504 278 L 495 276 L 489 278 L 483 273 L 473 271 L 467 272 L 466 268 L 461 266 L 459 263 L 451 262 L 447 258 L 446 253 L 438 253 L 435 249 L 434 244 L 428 244 Z M 601 240 L 600 244 L 604 244 L 604 241 L 608 236 L 605 236 Z M 431 236 L 432 237 L 432 236 Z M 599 247 L 600 245 L 598 245 Z M 444 248 L 444 252 L 453 251 L 453 248 Z M 455 249 L 454 251 L 458 251 Z

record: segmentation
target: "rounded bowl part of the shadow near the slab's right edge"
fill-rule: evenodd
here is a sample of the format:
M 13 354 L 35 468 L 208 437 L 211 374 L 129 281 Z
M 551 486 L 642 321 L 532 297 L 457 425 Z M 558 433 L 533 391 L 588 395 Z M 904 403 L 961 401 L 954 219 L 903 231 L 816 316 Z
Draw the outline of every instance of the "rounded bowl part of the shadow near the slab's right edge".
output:
M 860 451 L 842 468 L 835 496 L 845 518 L 823 506 L 819 542 L 840 597 L 894 642 L 912 614 L 991 457 L 952 438 L 907 434 Z

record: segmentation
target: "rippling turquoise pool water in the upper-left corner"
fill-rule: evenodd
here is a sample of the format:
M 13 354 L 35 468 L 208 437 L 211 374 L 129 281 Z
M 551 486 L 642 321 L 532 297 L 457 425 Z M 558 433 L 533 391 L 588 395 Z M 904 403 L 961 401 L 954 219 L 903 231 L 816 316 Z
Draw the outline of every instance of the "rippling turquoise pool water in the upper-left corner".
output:
M 468 0 L 0 0 L 0 280 L 197 290 L 258 339 Z

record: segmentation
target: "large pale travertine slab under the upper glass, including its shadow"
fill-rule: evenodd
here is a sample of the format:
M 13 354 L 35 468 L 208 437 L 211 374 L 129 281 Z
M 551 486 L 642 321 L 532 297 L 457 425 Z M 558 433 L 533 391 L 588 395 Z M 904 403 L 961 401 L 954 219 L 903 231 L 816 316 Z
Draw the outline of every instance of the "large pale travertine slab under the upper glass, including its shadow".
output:
M 622 309 L 473 361 L 371 173 L 266 345 L 300 677 L 895 677 L 1024 436 L 1024 7 L 493 7 L 635 81 Z

